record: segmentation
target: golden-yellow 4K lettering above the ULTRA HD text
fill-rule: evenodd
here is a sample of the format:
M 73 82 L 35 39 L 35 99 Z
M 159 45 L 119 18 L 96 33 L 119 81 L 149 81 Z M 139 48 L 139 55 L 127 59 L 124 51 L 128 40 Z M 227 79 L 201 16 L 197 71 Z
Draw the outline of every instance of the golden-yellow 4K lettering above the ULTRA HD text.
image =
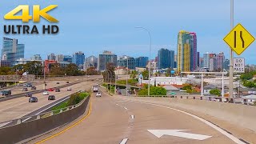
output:
M 33 19 L 33 22 L 40 22 L 40 17 L 45 18 L 49 22 L 58 22 L 58 20 L 50 14 L 47 14 L 50 10 L 54 10 L 58 5 L 50 5 L 46 8 L 40 10 L 39 5 L 33 6 L 33 17 L 30 15 L 30 6 L 28 5 L 20 5 L 17 6 L 14 10 L 11 10 L 7 13 L 4 18 L 6 20 L 22 20 L 22 22 L 29 22 Z M 22 11 L 22 15 L 15 15 L 19 11 Z

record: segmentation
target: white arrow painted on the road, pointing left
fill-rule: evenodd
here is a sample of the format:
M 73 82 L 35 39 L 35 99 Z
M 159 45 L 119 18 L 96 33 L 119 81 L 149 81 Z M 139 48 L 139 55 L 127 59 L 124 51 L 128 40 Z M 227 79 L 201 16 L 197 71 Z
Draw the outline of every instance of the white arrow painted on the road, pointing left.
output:
M 163 135 L 170 135 L 170 136 L 181 137 L 181 138 L 190 138 L 190 139 L 196 139 L 196 140 L 205 140 L 211 137 L 209 135 L 190 134 L 186 132 L 181 132 L 186 130 L 148 130 L 148 131 L 154 134 L 158 138 L 162 137 Z

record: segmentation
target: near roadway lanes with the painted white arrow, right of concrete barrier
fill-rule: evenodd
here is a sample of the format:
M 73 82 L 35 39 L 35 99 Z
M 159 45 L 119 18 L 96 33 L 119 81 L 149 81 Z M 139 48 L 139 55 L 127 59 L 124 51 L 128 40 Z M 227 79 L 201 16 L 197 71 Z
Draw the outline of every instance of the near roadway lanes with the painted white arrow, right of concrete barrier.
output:
M 31 143 L 244 143 L 193 114 L 106 92 L 101 98 L 92 95 L 89 114 L 77 125 L 68 127 L 75 124 L 71 123 Z

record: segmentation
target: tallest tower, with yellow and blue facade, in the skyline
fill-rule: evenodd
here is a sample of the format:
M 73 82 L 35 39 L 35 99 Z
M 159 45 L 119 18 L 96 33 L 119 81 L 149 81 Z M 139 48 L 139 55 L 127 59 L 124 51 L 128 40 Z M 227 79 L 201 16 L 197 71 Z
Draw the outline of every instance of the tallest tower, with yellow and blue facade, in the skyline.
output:
M 197 37 L 195 33 L 181 30 L 178 33 L 177 70 L 194 71 L 197 59 Z

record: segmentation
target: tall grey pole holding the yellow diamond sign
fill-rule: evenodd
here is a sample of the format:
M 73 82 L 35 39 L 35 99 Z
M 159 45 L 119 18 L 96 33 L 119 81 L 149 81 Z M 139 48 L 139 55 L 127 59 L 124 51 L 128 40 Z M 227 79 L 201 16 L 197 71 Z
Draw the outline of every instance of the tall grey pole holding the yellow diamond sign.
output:
M 230 28 L 234 28 L 234 0 L 230 0 Z M 233 50 L 230 48 L 230 98 L 233 98 Z

